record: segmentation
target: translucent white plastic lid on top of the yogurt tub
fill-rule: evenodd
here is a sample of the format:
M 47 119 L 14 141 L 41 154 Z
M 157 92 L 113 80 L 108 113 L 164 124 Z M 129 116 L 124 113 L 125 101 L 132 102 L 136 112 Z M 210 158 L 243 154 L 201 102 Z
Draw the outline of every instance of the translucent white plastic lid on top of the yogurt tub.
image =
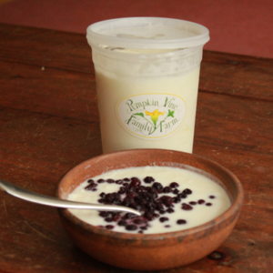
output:
M 159 17 L 128 17 L 87 27 L 89 45 L 125 48 L 174 49 L 205 45 L 208 29 L 196 23 Z

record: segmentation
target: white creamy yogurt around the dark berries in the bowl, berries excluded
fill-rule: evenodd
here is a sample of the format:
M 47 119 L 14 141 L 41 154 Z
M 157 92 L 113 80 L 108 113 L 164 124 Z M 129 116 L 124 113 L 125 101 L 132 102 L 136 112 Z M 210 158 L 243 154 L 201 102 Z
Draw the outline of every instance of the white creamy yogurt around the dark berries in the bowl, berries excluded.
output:
M 155 182 L 159 182 L 163 187 L 168 187 L 172 182 L 177 182 L 178 187 L 172 187 L 172 190 L 177 189 L 179 191 L 178 195 L 185 191 L 185 189 L 189 189 L 187 192 L 191 193 L 187 195 L 183 194 L 184 197 L 181 198 L 179 202 L 172 203 L 172 207 L 166 207 L 164 205 L 164 209 L 161 209 L 161 213 L 162 211 L 165 211 L 164 214 L 161 214 L 159 211 L 155 210 L 157 217 L 151 221 L 147 221 L 147 224 L 135 225 L 135 217 L 127 220 L 127 225 L 135 225 L 136 230 L 126 230 L 126 227 L 119 226 L 118 223 L 120 220 L 122 220 L 120 217 L 116 221 L 112 218 L 112 221 L 106 222 L 106 217 L 99 216 L 99 212 L 96 210 L 69 210 L 79 219 L 94 226 L 106 228 L 112 226 L 109 229 L 117 232 L 154 234 L 197 227 L 221 215 L 231 205 L 225 189 L 219 186 L 215 181 L 193 171 L 178 167 L 129 167 L 110 171 L 98 177 L 92 178 L 97 185 L 96 187 L 93 187 L 96 188 L 96 191 L 86 190 L 86 187 L 90 185 L 90 183 L 88 183 L 86 180 L 79 187 L 76 187 L 76 189 L 68 196 L 67 199 L 98 204 L 98 200 L 101 199 L 99 195 L 102 192 L 106 194 L 113 193 L 117 192 L 120 187 L 124 187 L 123 185 L 116 183 L 97 183 L 98 179 L 106 180 L 111 178 L 116 181 L 126 177 L 139 178 L 141 180 L 141 186 L 145 187 L 153 187 Z M 145 177 L 154 177 L 155 181 L 152 183 L 145 183 L 143 181 Z M 130 182 L 124 181 L 123 183 Z M 158 193 L 156 199 L 162 196 L 177 197 L 177 193 Z M 126 194 L 121 195 L 121 199 L 125 197 Z M 190 207 L 191 209 L 187 210 L 183 209 L 183 207 Z M 172 209 L 167 212 L 168 208 L 172 208 L 174 212 L 171 212 Z M 122 217 L 124 215 L 125 213 L 121 214 Z M 162 219 L 162 217 L 166 217 L 167 219 Z M 143 217 L 141 219 L 143 219 Z M 141 229 L 141 227 L 144 227 L 144 229 Z

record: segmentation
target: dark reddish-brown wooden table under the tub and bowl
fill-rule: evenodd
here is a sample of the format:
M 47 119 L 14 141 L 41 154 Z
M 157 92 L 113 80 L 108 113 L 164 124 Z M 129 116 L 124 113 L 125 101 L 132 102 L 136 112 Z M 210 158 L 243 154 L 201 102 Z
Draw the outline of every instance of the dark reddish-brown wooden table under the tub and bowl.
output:
M 54 196 L 68 169 L 102 153 L 90 47 L 54 30 L 0 33 L 0 178 Z M 205 51 L 194 153 L 233 171 L 245 204 L 223 255 L 165 272 L 273 272 L 272 134 L 273 59 Z M 0 192 L 0 209 L 0 272 L 128 272 L 76 248 L 56 208 Z

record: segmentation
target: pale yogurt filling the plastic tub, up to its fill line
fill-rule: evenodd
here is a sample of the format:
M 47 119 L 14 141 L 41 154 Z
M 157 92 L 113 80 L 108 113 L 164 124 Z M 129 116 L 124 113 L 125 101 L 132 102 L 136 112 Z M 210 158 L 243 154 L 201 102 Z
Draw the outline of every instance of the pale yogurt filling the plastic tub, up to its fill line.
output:
M 118 66 L 115 74 L 96 66 L 104 153 L 131 148 L 192 153 L 198 79 L 199 66 L 162 76 L 123 76 Z M 155 124 L 147 112 L 157 110 Z

